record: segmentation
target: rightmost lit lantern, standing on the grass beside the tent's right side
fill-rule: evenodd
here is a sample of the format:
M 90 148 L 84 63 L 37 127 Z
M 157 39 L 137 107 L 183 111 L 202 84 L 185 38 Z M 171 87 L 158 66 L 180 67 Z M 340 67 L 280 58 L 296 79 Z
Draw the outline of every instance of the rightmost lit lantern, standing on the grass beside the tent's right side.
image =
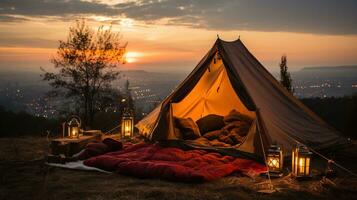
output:
M 312 153 L 304 145 L 298 145 L 292 152 L 292 173 L 295 177 L 311 177 Z

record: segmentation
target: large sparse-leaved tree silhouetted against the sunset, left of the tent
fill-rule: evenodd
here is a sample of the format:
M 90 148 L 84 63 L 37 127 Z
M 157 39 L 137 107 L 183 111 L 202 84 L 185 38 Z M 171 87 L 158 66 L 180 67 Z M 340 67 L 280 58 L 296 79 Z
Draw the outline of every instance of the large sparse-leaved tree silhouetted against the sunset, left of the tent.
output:
M 57 72 L 44 71 L 43 80 L 52 87 L 49 95 L 74 102 L 74 110 L 83 117 L 85 126 L 91 126 L 96 112 L 119 99 L 112 82 L 118 78 L 117 68 L 125 49 L 121 35 L 112 27 L 101 26 L 95 31 L 84 20 L 76 21 L 51 59 Z

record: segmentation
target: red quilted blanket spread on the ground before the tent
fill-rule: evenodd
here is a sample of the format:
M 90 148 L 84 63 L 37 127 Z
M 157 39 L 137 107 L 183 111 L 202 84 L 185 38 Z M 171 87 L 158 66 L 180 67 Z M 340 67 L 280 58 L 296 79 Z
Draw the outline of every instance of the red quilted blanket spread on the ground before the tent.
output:
M 147 143 L 92 157 L 84 164 L 124 175 L 174 181 L 212 181 L 235 172 L 257 175 L 266 171 L 264 165 L 251 160 Z

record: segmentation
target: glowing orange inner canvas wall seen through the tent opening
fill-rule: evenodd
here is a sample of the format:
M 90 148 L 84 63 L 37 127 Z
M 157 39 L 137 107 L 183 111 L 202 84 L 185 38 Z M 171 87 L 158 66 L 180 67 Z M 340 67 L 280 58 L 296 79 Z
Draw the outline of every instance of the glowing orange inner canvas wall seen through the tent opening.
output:
M 212 59 L 208 65 L 190 93 L 172 103 L 173 116 L 197 121 L 209 114 L 225 116 L 235 109 L 255 118 L 255 112 L 246 108 L 233 89 L 222 60 Z

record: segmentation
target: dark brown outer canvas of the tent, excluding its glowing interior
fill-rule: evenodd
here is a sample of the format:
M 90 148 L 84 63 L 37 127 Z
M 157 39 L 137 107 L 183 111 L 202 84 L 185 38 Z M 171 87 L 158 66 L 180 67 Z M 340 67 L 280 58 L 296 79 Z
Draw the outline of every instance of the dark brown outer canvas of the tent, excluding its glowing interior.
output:
M 171 103 L 180 102 L 193 90 L 217 52 L 222 57 L 229 81 L 239 99 L 248 110 L 258 113 L 258 130 L 264 133 L 265 146 L 277 142 L 286 150 L 291 150 L 299 142 L 320 149 L 345 142 L 339 132 L 283 88 L 240 39 L 232 42 L 217 39 L 189 76 L 162 102 L 160 108 L 137 124 L 139 130 L 150 127 L 148 135 L 151 139 L 167 139 L 173 131 L 170 124 Z

